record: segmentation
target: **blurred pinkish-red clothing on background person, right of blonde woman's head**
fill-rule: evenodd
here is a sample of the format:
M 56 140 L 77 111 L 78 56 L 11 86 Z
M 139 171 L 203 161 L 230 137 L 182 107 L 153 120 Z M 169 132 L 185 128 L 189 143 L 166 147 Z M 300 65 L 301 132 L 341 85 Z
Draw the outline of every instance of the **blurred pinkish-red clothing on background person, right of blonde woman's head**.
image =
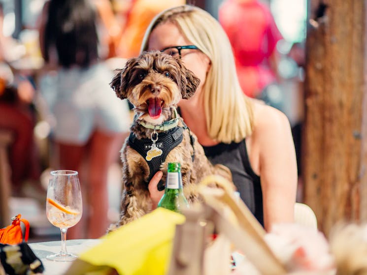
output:
M 219 8 L 219 22 L 231 41 L 241 88 L 256 97 L 276 81 L 269 57 L 282 35 L 271 12 L 257 0 L 227 0 Z

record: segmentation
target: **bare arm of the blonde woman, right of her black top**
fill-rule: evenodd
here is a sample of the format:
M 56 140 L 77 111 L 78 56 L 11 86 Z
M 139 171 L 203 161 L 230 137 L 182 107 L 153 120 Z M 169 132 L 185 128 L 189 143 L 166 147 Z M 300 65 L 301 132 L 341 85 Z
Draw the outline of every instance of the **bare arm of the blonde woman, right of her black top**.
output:
M 250 161 L 257 160 L 263 190 L 264 225 L 293 222 L 297 191 L 297 161 L 291 127 L 280 111 L 260 105 L 255 112 Z M 252 158 L 252 159 L 251 159 Z

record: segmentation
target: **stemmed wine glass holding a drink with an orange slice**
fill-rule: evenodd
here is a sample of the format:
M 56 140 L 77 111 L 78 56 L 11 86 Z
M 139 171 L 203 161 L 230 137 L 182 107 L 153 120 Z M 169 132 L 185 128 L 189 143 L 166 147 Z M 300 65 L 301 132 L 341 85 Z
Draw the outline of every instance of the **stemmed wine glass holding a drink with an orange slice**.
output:
M 73 261 L 76 255 L 66 248 L 67 228 L 78 223 L 82 216 L 82 195 L 78 172 L 71 170 L 51 171 L 47 188 L 46 214 L 48 220 L 61 230 L 61 251 L 48 255 L 53 261 Z

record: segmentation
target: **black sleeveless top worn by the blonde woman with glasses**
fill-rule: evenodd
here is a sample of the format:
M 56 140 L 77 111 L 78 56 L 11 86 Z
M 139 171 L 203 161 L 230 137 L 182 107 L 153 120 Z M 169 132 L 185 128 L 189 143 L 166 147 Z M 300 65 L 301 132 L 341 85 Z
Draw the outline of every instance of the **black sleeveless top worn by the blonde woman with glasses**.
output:
M 251 168 L 245 140 L 240 143 L 203 146 L 203 149 L 206 157 L 213 164 L 220 163 L 231 170 L 234 185 L 237 187 L 241 199 L 264 226 L 260 177 Z

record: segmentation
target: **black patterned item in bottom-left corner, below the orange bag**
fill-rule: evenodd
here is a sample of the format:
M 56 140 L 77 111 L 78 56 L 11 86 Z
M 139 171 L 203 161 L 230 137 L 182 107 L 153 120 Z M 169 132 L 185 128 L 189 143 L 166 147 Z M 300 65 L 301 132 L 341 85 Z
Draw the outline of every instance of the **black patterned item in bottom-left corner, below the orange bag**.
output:
M 2 271 L 8 275 L 41 274 L 44 271 L 41 260 L 27 243 L 0 244 L 0 263 L 1 275 Z

